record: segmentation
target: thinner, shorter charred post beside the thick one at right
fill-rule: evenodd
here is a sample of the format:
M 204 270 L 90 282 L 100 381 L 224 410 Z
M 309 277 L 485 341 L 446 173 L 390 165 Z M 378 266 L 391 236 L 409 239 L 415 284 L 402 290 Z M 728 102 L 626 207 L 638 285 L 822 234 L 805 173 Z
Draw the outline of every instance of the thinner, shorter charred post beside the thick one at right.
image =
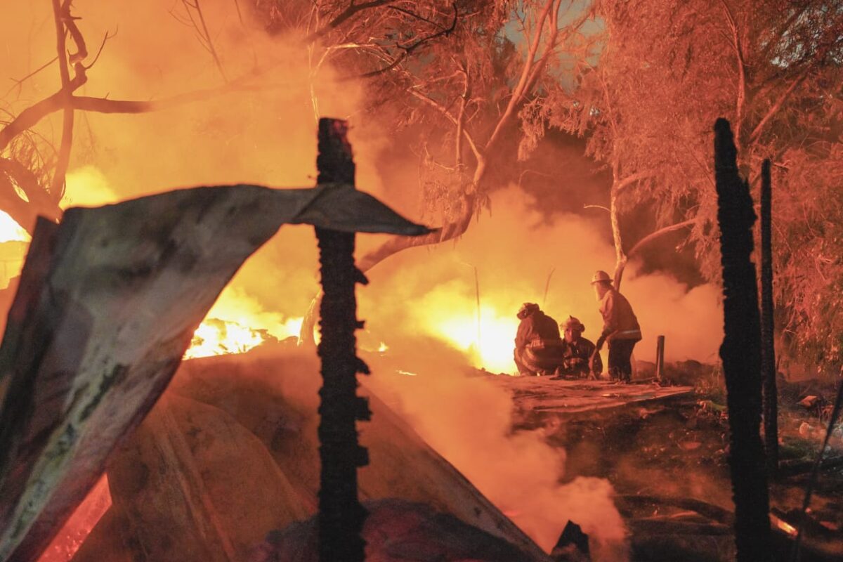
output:
M 776 389 L 776 346 L 773 320 L 772 188 L 770 160 L 761 164 L 761 377 L 764 381 L 764 442 L 767 471 L 779 468 L 779 397 Z

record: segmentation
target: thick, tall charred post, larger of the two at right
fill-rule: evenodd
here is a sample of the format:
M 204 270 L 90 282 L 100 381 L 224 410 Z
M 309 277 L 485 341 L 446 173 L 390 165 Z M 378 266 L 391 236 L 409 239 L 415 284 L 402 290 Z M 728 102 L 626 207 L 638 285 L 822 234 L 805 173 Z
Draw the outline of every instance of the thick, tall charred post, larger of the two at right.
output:
M 725 336 L 720 346 L 729 415 L 729 468 L 735 503 L 738 562 L 771 559 L 770 499 L 760 436 L 760 318 L 750 260 L 755 222 L 749 185 L 738 175 L 728 120 L 714 126 L 717 222 L 723 266 Z

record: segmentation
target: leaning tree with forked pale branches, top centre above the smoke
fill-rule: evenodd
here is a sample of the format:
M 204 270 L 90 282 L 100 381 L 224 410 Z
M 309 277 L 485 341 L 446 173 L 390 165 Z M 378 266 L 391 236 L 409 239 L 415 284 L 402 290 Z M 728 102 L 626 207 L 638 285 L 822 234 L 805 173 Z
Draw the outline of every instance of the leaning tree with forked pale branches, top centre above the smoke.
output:
M 373 109 L 414 132 L 425 211 L 443 225 L 428 236 L 389 238 L 358 260 L 366 271 L 404 249 L 465 233 L 506 177 L 502 170 L 540 140 L 549 124 L 537 117 L 537 104 L 570 76 L 573 59 L 593 51 L 599 30 L 590 6 L 562 0 L 355 6 L 364 5 L 368 14 L 351 23 L 343 18 L 352 8 L 336 8 L 314 34 L 339 34 L 326 56 L 368 80 Z M 401 19 L 404 31 L 379 33 L 389 19 Z M 423 55 L 409 59 L 416 51 Z M 312 339 L 314 310 L 303 340 Z

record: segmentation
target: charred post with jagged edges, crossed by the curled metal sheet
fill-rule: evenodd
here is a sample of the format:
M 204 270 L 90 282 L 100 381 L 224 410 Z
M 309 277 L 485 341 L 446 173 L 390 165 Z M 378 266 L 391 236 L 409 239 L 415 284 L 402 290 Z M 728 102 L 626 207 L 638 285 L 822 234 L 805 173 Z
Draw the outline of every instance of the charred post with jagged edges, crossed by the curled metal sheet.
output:
M 354 185 L 352 147 L 346 122 L 319 120 L 318 185 Z M 330 188 L 328 188 L 330 189 Z M 357 499 L 357 467 L 368 464 L 368 452 L 357 443 L 356 420 L 368 420 L 366 399 L 357 396 L 357 372 L 368 367 L 357 358 L 354 330 L 357 299 L 354 286 L 366 278 L 354 265 L 354 233 L 316 228 L 319 239 L 322 303 L 322 389 L 319 390 L 319 562 L 362 562 L 360 536 L 366 511 Z

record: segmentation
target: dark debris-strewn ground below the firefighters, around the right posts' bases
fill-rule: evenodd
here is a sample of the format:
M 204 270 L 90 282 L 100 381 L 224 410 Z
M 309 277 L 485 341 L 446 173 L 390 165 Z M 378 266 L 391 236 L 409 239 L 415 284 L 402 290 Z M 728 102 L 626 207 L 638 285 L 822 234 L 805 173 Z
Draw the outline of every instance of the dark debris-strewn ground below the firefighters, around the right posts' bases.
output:
M 668 382 L 692 385 L 695 392 L 572 415 L 523 409 L 518 425 L 544 427 L 549 442 L 566 449 L 566 480 L 609 479 L 631 531 L 633 559 L 733 559 L 728 418 L 721 377 L 713 367 L 682 364 L 668 369 Z M 779 386 L 781 469 L 770 479 L 771 521 L 775 550 L 787 560 L 835 389 L 816 381 L 781 380 Z M 818 396 L 817 404 L 798 404 L 806 396 Z M 843 559 L 840 430 L 825 458 L 803 522 L 802 560 Z

